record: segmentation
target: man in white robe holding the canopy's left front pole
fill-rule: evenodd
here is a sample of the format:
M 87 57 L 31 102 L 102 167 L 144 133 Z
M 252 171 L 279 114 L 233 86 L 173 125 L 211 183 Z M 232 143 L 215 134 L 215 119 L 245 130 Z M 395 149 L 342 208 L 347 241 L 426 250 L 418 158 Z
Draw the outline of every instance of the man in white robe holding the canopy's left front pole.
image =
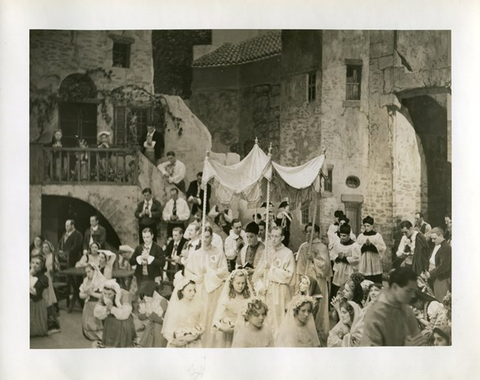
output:
M 208 328 L 202 337 L 204 347 L 213 347 L 213 314 L 228 275 L 225 254 L 212 245 L 212 229 L 205 227 L 204 247 L 189 255 L 185 267 L 185 277 L 195 281 L 200 288 L 198 298 L 205 308 L 203 325 Z

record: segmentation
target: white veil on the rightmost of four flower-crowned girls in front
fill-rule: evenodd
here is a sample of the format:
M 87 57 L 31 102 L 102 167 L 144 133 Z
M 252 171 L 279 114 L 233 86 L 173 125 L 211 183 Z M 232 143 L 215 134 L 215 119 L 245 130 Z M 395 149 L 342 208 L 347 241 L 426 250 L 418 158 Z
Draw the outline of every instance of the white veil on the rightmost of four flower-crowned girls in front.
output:
M 305 303 L 310 303 L 312 305 L 312 313 L 309 315 L 307 323 L 304 326 L 299 326 L 296 321 L 295 311 L 298 311 Z M 314 304 L 315 302 L 313 298 L 309 296 L 297 295 L 292 298 L 275 339 L 275 347 L 296 347 L 295 344 L 298 341 L 298 338 L 300 338 L 300 334 L 302 337 L 307 337 L 311 347 L 320 347 L 320 339 L 318 338 L 313 318 Z

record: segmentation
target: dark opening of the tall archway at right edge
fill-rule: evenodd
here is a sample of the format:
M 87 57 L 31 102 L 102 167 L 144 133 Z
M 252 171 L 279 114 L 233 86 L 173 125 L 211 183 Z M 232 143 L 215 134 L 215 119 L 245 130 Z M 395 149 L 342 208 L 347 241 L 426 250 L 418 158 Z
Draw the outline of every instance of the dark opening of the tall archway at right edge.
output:
M 427 165 L 426 219 L 432 226 L 443 226 L 445 214 L 451 212 L 452 167 L 448 161 L 447 108 L 449 93 L 410 92 L 400 97 L 408 110 L 413 127 L 421 141 Z

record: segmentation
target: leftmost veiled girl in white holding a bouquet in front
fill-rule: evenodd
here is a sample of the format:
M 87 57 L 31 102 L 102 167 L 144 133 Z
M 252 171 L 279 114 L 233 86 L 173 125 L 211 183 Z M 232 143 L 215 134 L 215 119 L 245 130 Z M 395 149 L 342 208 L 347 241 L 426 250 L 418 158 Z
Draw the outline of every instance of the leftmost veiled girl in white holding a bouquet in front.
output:
M 172 293 L 163 323 L 162 334 L 167 347 L 201 348 L 203 306 L 196 296 L 196 284 L 188 278 L 179 281 Z

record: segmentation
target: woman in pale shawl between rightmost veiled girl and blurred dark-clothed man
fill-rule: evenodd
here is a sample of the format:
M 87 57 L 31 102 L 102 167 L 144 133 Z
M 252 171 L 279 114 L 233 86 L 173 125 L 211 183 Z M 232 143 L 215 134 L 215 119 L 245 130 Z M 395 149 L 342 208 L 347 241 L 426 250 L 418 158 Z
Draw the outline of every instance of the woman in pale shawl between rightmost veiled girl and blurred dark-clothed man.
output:
M 328 335 L 328 347 L 358 347 L 363 336 L 364 314 L 353 301 L 340 302 L 340 321 Z

